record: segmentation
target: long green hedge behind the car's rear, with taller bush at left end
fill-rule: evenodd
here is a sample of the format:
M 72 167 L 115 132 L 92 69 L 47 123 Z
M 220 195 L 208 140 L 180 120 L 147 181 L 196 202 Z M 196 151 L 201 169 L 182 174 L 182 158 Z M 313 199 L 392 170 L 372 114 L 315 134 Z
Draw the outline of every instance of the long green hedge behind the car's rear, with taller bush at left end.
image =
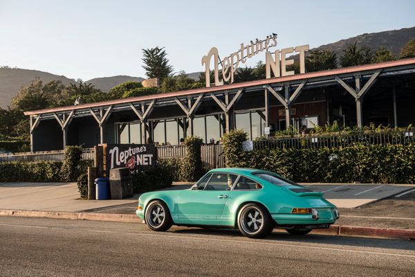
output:
M 270 170 L 299 182 L 415 183 L 415 143 L 243 152 L 245 138 L 240 130 L 224 135 L 227 166 Z

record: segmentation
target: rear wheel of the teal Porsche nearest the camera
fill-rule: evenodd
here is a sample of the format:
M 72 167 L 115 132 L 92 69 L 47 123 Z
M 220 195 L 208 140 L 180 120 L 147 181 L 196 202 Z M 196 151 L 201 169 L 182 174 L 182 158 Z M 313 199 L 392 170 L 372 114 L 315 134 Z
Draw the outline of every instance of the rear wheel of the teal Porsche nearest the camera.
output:
M 246 204 L 239 210 L 237 224 L 242 235 L 248 238 L 264 238 L 274 229 L 270 213 L 257 203 Z

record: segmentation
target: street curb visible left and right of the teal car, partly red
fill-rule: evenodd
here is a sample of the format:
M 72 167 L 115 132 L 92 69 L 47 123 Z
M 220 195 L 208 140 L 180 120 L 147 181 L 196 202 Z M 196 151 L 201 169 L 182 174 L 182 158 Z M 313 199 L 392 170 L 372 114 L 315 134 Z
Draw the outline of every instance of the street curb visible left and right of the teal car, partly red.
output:
M 70 213 L 70 212 L 48 212 L 48 211 L 21 211 L 0 210 L 0 216 L 17 217 L 45 217 L 62 220 L 95 220 L 106 222 L 142 223 L 136 215 L 119 213 Z M 415 239 L 413 229 L 387 229 L 364 226 L 331 225 L 329 229 L 314 229 L 311 234 L 315 235 L 340 235 L 344 237 L 363 238 L 400 238 L 405 240 Z

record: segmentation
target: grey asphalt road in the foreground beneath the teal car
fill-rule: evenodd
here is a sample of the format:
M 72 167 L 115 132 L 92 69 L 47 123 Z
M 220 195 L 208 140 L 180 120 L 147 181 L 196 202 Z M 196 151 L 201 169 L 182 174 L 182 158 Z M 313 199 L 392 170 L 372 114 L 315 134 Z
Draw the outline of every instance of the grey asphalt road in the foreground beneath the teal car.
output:
M 0 276 L 414 276 L 415 242 L 0 217 Z

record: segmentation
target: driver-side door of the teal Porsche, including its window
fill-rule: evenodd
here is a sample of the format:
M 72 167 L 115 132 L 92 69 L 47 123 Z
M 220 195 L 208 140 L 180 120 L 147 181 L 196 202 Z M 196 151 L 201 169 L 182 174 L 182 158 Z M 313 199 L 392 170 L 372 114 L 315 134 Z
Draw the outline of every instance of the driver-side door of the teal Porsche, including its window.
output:
M 237 175 L 213 173 L 178 195 L 180 224 L 224 225 L 222 214 Z

